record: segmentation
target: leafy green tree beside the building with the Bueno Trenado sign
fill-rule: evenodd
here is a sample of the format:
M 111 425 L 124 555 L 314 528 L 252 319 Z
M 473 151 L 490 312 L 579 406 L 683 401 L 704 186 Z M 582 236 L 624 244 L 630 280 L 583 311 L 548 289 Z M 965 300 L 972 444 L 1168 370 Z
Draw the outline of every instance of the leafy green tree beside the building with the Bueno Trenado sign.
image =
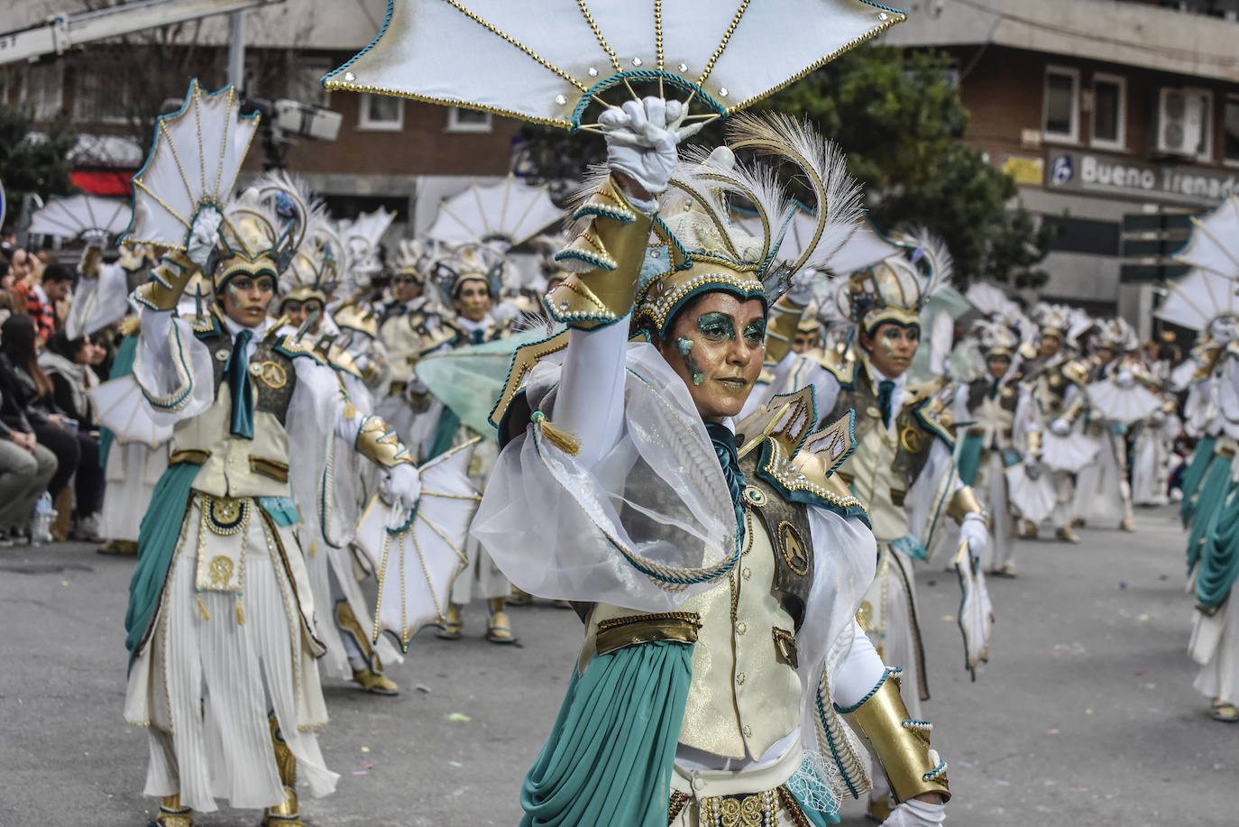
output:
M 1016 201 L 1010 176 L 960 143 L 968 110 L 949 56 L 886 46 L 852 50 L 761 102 L 756 110 L 808 118 L 846 154 L 881 229 L 926 227 L 955 259 L 963 286 L 992 279 L 1037 286 L 1052 231 Z M 597 135 L 527 126 L 524 159 L 549 180 L 605 160 Z M 717 145 L 722 125 L 694 141 Z

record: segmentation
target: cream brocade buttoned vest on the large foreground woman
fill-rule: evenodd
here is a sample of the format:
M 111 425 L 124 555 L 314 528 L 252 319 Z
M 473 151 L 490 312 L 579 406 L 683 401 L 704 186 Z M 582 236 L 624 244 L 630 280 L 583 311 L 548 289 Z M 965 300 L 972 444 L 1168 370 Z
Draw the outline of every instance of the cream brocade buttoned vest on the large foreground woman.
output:
M 779 660 L 774 630 L 794 634 L 792 616 L 774 595 L 774 549 L 756 517 L 752 546 L 729 582 L 689 598 L 679 611 L 700 615 L 693 647 L 693 681 L 679 743 L 712 755 L 760 759 L 800 725 L 800 678 Z M 738 584 L 738 588 L 736 586 Z M 736 613 L 732 620 L 732 590 Z M 598 621 L 642 614 L 598 604 L 590 615 L 585 652 L 592 653 Z M 581 668 L 586 657 L 582 657 Z

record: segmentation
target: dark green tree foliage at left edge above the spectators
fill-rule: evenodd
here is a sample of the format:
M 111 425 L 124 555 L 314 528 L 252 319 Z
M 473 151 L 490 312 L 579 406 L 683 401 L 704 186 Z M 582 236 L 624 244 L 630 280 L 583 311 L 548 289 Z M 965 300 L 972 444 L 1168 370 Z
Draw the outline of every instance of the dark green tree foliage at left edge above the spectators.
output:
M 6 223 L 16 221 L 27 192 L 47 198 L 52 193 L 63 195 L 73 186 L 68 154 L 77 135 L 68 123 L 61 117 L 37 135 L 31 134 L 32 129 L 30 113 L 0 103 L 0 180 L 9 203 Z

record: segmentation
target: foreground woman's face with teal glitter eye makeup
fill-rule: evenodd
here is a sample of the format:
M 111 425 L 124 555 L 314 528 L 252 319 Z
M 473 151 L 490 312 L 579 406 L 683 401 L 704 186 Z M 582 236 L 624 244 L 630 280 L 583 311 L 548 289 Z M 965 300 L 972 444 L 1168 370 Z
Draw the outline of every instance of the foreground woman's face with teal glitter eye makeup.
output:
M 706 293 L 679 312 L 658 348 L 703 419 L 735 417 L 762 369 L 766 309 L 757 299 Z

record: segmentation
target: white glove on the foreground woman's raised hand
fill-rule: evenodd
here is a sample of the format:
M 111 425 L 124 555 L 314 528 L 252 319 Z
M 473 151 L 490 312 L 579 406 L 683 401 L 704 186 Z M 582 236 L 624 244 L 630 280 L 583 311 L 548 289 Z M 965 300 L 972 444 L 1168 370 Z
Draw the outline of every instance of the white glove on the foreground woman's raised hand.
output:
M 607 138 L 607 165 L 658 195 L 675 171 L 679 143 L 704 125 L 684 126 L 688 114 L 681 102 L 653 97 L 608 108 L 598 117 Z

